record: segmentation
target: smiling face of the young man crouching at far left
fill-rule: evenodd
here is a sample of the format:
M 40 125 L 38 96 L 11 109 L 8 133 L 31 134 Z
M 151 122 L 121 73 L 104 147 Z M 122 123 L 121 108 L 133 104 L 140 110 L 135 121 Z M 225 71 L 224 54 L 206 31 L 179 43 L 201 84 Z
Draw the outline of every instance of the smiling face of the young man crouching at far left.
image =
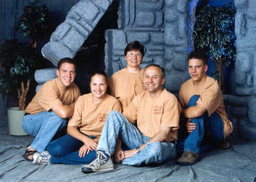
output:
M 64 86 L 69 86 L 75 80 L 76 77 L 76 66 L 70 63 L 61 64 L 60 69 L 57 69 L 56 74 L 60 82 Z

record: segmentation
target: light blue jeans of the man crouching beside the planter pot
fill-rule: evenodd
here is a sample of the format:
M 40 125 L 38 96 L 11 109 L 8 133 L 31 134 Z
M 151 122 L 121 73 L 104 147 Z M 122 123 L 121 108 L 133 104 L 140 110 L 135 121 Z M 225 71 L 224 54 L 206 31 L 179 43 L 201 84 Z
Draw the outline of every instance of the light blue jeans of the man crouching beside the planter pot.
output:
M 51 142 L 54 135 L 67 123 L 67 119 L 60 118 L 54 111 L 43 111 L 23 117 L 22 127 L 27 134 L 35 137 L 31 147 L 42 153 Z

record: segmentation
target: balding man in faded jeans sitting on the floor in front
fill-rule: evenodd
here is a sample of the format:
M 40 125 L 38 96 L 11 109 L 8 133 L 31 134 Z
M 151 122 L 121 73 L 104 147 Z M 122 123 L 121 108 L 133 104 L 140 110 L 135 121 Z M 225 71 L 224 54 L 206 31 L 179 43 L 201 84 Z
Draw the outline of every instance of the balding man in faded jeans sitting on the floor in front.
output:
M 164 69 L 159 65 L 148 65 L 143 77 L 147 91 L 134 97 L 123 114 L 110 111 L 98 142 L 97 159 L 82 167 L 82 172 L 113 170 L 110 157 L 114 152 L 122 164 L 134 166 L 175 158 L 179 101 L 162 89 Z M 133 125 L 136 119 L 138 129 Z M 122 151 L 120 139 L 130 150 Z

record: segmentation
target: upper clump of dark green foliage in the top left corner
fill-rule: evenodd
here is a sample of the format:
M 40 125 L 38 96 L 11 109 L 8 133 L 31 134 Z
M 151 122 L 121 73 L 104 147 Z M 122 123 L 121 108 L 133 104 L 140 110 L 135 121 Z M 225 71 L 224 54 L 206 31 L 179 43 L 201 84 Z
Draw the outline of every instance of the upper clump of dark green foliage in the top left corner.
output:
M 38 5 L 39 1 L 31 2 L 30 5 L 24 6 L 24 12 L 19 16 L 16 30 L 23 32 L 23 36 L 30 37 L 30 43 L 42 40 L 49 32 L 50 21 L 49 14 L 51 11 L 47 8 L 47 4 Z

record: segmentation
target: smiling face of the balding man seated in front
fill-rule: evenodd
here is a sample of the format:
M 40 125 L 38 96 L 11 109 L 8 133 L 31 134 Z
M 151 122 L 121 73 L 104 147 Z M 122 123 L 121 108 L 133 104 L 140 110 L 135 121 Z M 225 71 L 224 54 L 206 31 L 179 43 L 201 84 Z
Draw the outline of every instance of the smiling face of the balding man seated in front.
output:
M 162 85 L 165 78 L 160 68 L 152 66 L 144 70 L 144 86 L 150 93 L 150 96 L 158 96 L 162 92 Z

